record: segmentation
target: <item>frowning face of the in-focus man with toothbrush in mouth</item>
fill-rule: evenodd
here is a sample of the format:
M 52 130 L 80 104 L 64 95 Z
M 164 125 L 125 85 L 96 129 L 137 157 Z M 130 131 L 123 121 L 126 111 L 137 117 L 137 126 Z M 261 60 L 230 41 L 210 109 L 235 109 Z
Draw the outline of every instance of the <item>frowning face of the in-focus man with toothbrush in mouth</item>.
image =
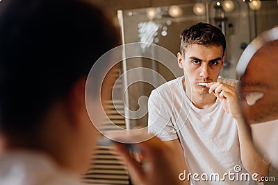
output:
M 184 75 L 188 75 L 186 87 L 191 85 L 193 94 L 208 94 L 208 88 L 197 85 L 197 82 L 216 82 L 220 69 L 222 69 L 224 57 L 222 46 L 204 46 L 191 44 L 185 50 L 184 55 L 178 53 L 179 67 Z

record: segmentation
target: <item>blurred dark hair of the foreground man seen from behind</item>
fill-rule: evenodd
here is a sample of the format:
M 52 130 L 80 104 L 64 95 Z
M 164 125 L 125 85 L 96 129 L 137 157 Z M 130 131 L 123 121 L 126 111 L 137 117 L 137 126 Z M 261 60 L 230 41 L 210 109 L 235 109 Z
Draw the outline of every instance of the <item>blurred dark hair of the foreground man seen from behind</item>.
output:
M 104 12 L 78 0 L 0 2 L 0 132 L 30 133 L 119 41 Z

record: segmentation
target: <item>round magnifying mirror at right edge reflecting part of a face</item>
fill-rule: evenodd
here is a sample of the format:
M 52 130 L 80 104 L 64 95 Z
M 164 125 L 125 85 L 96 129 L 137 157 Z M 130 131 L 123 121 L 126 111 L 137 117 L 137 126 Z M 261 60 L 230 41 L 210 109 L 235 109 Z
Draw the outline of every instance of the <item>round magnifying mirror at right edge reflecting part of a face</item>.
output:
M 277 51 L 278 28 L 272 28 L 250 43 L 241 55 L 237 67 L 242 80 L 240 103 L 245 119 L 252 129 L 254 144 L 265 160 L 276 169 L 278 169 Z

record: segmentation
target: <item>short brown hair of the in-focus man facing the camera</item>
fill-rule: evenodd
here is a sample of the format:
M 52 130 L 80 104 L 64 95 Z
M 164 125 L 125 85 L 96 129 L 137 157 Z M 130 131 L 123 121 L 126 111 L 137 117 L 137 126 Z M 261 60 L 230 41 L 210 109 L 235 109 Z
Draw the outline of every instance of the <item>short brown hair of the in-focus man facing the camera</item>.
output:
M 181 54 L 185 53 L 185 49 L 190 44 L 201 44 L 204 46 L 222 46 L 223 55 L 226 49 L 226 39 L 219 28 L 203 22 L 199 22 L 186 28 L 180 35 L 181 38 Z

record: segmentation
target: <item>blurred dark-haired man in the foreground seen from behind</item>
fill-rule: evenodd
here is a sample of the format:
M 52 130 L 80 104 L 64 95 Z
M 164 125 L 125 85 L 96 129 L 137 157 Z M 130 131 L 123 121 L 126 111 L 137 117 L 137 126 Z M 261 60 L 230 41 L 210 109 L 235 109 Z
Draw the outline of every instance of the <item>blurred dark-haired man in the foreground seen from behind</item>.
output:
M 86 77 L 117 44 L 116 33 L 84 1 L 0 2 L 0 184 L 79 184 L 97 140 L 85 108 Z M 157 138 L 138 146 L 149 163 L 131 165 L 140 184 L 179 184 L 171 149 Z M 117 148 L 134 162 L 126 147 Z M 169 166 L 167 175 L 161 166 Z

